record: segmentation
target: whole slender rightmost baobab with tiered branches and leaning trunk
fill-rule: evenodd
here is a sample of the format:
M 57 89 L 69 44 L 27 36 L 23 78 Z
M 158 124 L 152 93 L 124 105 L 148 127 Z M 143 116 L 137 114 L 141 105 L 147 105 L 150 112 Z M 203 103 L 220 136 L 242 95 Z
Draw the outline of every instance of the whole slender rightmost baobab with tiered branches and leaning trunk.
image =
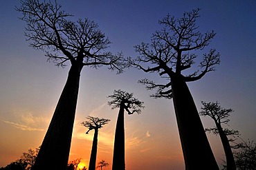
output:
M 222 108 L 218 102 L 216 103 L 205 103 L 202 102 L 203 107 L 201 107 L 200 115 L 201 116 L 210 116 L 212 120 L 214 120 L 214 123 L 216 127 L 213 128 L 206 128 L 205 131 L 213 132 L 213 134 L 219 134 L 219 137 L 221 138 L 221 142 L 223 145 L 223 149 L 226 155 L 226 169 L 227 170 L 234 170 L 235 167 L 235 159 L 232 153 L 232 149 L 230 146 L 230 140 L 233 141 L 234 139 L 230 138 L 228 139 L 228 136 L 238 136 L 239 131 L 236 130 L 230 130 L 230 129 L 223 129 L 222 124 L 228 124 L 230 119 L 228 117 L 230 116 L 230 113 L 233 112 L 232 109 L 224 109 Z

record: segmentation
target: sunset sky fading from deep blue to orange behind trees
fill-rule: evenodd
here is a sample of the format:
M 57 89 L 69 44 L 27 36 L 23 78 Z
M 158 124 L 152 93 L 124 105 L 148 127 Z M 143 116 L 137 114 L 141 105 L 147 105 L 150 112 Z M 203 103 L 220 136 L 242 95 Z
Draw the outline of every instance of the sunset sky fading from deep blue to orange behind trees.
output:
M 60 97 L 68 67 L 62 69 L 47 63 L 44 52 L 28 47 L 23 21 L 15 11 L 18 0 L 0 1 L 0 167 L 19 158 L 28 148 L 42 140 Z M 201 100 L 219 101 L 235 112 L 230 116 L 230 129 L 241 138 L 256 140 L 256 1 L 61 1 L 74 20 L 87 17 L 98 23 L 112 42 L 111 52 L 122 51 L 136 56 L 134 45 L 149 42 L 161 29 L 158 20 L 168 13 L 181 17 L 185 11 L 201 8 L 197 21 L 202 32 L 217 32 L 209 47 L 221 54 L 221 64 L 201 80 L 188 83 L 196 107 Z M 93 131 L 86 135 L 80 125 L 86 116 L 111 119 L 99 131 L 98 161 L 106 160 L 111 169 L 113 135 L 118 109 L 107 105 L 114 89 L 133 92 L 145 102 L 140 115 L 125 115 L 126 168 L 185 169 L 172 100 L 149 98 L 138 80 L 149 78 L 161 82 L 156 74 L 126 70 L 124 74 L 102 67 L 84 67 L 81 74 L 77 113 L 71 143 L 70 160 L 83 158 L 88 167 Z M 204 127 L 212 127 L 210 118 L 201 118 Z M 221 166 L 224 159 L 219 136 L 208 134 L 214 156 Z M 195 139 L 196 140 L 196 139 Z M 57 163 L 57 162 L 56 162 Z

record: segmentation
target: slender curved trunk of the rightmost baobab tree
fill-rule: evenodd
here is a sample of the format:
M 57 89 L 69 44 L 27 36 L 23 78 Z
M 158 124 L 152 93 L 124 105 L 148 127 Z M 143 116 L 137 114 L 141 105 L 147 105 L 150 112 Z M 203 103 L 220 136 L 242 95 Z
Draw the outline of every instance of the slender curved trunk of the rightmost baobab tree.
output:
M 235 170 L 236 169 L 235 159 L 234 159 L 230 144 L 228 142 L 228 138 L 227 138 L 226 134 L 224 133 L 221 125 L 219 125 L 219 123 L 217 123 L 217 122 L 215 122 L 215 124 L 219 131 L 219 136 L 221 138 L 223 149 L 224 149 L 224 152 L 226 155 L 227 170 Z

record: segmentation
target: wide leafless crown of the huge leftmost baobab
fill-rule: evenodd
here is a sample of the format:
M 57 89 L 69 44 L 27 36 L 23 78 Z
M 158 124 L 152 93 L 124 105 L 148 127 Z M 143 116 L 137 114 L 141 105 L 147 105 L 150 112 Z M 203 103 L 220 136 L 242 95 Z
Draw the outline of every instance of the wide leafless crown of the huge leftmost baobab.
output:
M 65 66 L 66 61 L 95 68 L 109 65 L 118 73 L 127 67 L 121 52 L 107 51 L 111 42 L 98 24 L 86 18 L 69 20 L 73 15 L 62 10 L 57 1 L 21 0 L 16 10 L 23 14 L 19 19 L 27 23 L 25 35 L 30 46 L 44 50 L 55 65 Z

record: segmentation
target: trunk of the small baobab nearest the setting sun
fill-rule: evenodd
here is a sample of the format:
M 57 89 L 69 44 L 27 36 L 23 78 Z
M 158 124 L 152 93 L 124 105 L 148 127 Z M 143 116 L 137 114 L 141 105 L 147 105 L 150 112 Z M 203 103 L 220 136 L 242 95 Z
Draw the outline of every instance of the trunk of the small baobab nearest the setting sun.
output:
M 89 170 L 95 170 L 96 158 L 97 158 L 97 147 L 98 147 L 98 129 L 94 129 L 93 146 L 91 147 L 91 158 L 89 162 Z

